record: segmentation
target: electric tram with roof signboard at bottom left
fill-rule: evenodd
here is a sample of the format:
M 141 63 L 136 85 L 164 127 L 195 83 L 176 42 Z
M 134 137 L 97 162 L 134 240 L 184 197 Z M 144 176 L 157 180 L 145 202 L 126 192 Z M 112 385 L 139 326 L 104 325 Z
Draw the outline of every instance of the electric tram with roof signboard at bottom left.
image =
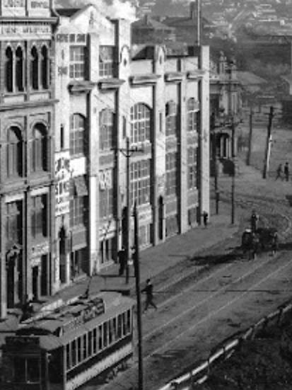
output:
M 133 354 L 134 301 L 104 292 L 20 324 L 6 336 L 1 390 L 74 390 Z

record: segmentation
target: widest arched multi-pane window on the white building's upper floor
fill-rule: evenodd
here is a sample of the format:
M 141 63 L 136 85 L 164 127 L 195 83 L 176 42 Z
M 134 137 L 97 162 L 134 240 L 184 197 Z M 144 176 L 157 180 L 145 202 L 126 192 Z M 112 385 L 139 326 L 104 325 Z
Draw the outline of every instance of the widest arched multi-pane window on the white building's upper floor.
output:
M 131 143 L 150 142 L 151 110 L 147 105 L 138 103 L 131 108 Z

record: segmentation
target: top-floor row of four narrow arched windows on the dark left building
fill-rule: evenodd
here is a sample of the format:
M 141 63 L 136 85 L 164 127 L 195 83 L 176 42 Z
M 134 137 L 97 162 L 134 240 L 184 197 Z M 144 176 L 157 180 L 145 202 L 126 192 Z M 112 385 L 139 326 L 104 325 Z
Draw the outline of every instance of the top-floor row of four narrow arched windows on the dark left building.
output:
M 25 50 L 18 46 L 16 50 L 6 48 L 5 87 L 7 92 L 21 92 L 26 88 Z M 49 49 L 43 45 L 40 50 L 33 46 L 28 55 L 30 67 L 30 87 L 33 90 L 49 88 Z

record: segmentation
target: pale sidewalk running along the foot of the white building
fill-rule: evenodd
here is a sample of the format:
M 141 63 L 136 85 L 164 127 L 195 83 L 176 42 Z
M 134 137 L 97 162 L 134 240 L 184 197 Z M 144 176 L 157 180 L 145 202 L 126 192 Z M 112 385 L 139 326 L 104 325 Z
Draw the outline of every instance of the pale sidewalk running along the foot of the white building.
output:
M 237 231 L 238 223 L 233 226 L 230 225 L 230 215 L 221 212 L 220 215 L 211 216 L 211 221 L 207 228 L 198 226 L 186 234 L 173 236 L 165 243 L 141 251 L 141 283 L 145 282 L 148 277 L 154 278 L 180 261 L 191 258 L 200 251 L 228 239 L 228 237 L 233 236 Z M 88 283 L 89 279 L 81 280 L 73 286 L 60 291 L 57 297 L 67 302 L 72 297 L 84 294 Z M 129 267 L 129 283 L 126 284 L 125 276 L 119 276 L 119 266 L 113 264 L 91 278 L 89 291 L 90 294 L 97 294 L 101 290 L 117 290 L 129 293 L 134 292 L 134 287 L 134 267 Z M 56 299 L 56 297 L 54 298 Z

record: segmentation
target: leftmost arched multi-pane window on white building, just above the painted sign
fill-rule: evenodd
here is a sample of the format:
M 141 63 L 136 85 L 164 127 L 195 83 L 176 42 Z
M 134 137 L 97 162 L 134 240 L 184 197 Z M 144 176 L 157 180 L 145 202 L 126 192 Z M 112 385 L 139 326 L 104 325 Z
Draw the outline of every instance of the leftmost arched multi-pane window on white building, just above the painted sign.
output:
M 83 115 L 73 114 L 70 119 L 70 154 L 83 156 L 85 153 L 85 125 Z

